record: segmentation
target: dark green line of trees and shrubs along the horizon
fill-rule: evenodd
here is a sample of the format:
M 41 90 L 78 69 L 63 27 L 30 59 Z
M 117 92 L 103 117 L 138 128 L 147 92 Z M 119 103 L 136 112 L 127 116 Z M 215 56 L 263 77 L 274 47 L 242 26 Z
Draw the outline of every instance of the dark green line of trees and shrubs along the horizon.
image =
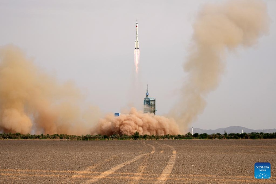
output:
M 188 132 L 185 135 L 140 135 L 139 132 L 135 132 L 133 135 L 119 135 L 114 134 L 108 135 L 67 135 L 67 134 L 40 134 L 31 135 L 21 133 L 0 133 L 0 140 L 6 139 L 63 139 L 63 140 L 182 140 L 182 139 L 275 139 L 276 132 L 274 133 L 263 133 L 263 132 L 251 132 L 251 133 L 194 133 L 193 135 Z

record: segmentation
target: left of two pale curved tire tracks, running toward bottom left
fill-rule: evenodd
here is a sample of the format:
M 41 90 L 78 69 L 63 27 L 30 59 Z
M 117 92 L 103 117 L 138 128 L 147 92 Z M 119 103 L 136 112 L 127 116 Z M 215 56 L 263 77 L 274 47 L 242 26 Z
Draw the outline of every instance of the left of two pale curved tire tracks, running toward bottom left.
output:
M 146 144 L 145 142 L 143 142 L 144 144 Z M 150 145 L 150 144 L 147 144 L 147 145 Z M 142 155 L 138 155 L 136 157 L 134 157 L 133 159 L 129 160 L 129 161 L 126 161 L 124 163 L 121 163 L 111 169 L 109 169 L 108 171 L 105 171 L 103 173 L 101 173 L 100 175 L 98 176 L 95 176 L 94 178 L 90 179 L 90 180 L 87 180 L 86 182 L 84 182 L 83 184 L 89 184 L 89 183 L 94 183 L 94 182 L 97 182 L 99 179 L 102 179 L 102 178 L 105 178 L 107 177 L 109 174 L 112 174 L 113 172 L 121 169 L 122 167 L 124 167 L 125 165 L 128 165 L 138 159 L 140 159 L 141 157 L 145 156 L 145 155 L 149 155 L 149 154 L 152 154 L 152 153 L 155 153 L 155 147 L 150 145 L 152 147 L 152 151 L 150 153 L 145 153 L 145 154 L 142 154 Z

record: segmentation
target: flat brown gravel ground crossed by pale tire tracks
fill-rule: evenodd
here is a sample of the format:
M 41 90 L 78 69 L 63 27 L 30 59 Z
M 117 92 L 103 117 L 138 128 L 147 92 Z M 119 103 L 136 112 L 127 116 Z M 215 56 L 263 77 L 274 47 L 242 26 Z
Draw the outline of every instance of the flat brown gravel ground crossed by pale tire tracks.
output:
M 1 140 L 0 183 L 276 183 L 276 139 Z M 270 162 L 270 179 L 254 164 Z

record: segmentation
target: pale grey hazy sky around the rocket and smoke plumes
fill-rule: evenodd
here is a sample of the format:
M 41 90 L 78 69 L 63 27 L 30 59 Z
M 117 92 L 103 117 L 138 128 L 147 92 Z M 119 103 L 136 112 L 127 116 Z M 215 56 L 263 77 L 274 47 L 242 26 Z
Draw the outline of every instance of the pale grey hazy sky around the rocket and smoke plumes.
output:
M 179 99 L 192 24 L 208 2 L 221 1 L 1 0 L 0 46 L 15 44 L 60 82 L 74 81 L 104 113 L 120 112 L 132 102 L 140 109 L 148 82 L 156 114 L 162 115 Z M 220 86 L 208 95 L 207 107 L 191 126 L 276 128 L 276 1 L 265 2 L 269 34 L 253 48 L 228 53 Z

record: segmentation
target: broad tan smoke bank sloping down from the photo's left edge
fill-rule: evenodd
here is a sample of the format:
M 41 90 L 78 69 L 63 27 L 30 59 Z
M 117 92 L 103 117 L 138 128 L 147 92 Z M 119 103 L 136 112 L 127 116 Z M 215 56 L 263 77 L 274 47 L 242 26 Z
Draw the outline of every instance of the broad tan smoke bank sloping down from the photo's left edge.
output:
M 100 112 L 84 105 L 72 82 L 61 84 L 46 75 L 13 45 L 0 48 L 0 131 L 90 133 Z

